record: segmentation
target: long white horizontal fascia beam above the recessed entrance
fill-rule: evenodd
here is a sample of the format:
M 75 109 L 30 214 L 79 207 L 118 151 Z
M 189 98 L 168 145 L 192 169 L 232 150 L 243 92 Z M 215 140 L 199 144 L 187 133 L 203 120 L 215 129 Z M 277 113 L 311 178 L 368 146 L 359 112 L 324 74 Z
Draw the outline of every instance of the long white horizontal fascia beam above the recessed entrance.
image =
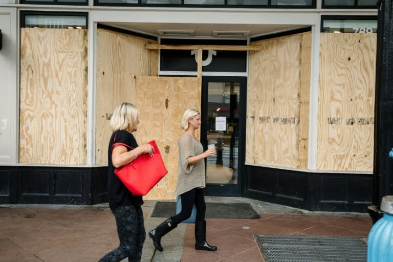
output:
M 138 10 L 94 10 L 96 22 L 246 24 L 246 25 L 314 25 L 318 14 L 277 9 L 193 9 L 173 10 L 146 8 Z

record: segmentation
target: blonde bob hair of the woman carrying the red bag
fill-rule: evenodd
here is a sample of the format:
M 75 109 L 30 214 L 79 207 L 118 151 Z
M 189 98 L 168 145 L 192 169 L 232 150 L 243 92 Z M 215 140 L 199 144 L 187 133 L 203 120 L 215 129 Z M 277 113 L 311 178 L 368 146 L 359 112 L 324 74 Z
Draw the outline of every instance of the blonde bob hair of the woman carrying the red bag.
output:
M 113 132 L 127 129 L 128 124 L 130 132 L 134 132 L 137 129 L 138 118 L 138 107 L 132 103 L 123 102 L 116 107 L 109 123 Z

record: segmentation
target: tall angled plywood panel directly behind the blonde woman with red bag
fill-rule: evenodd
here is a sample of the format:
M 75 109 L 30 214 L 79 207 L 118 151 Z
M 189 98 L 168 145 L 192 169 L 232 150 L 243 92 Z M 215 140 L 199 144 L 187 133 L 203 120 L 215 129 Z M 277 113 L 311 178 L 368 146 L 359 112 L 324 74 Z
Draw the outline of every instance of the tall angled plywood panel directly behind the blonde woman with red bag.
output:
M 107 164 L 112 130 L 108 116 L 124 102 L 136 103 L 136 76 L 158 73 L 158 52 L 146 50 L 156 42 L 137 36 L 97 30 L 96 164 Z

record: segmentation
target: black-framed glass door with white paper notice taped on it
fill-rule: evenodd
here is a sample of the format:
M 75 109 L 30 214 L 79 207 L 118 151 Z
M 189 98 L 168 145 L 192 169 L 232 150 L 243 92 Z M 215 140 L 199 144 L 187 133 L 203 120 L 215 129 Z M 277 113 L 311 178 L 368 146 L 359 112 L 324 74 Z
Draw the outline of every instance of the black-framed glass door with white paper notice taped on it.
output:
M 206 159 L 206 195 L 240 196 L 244 169 L 245 77 L 203 77 L 201 140 L 214 146 Z

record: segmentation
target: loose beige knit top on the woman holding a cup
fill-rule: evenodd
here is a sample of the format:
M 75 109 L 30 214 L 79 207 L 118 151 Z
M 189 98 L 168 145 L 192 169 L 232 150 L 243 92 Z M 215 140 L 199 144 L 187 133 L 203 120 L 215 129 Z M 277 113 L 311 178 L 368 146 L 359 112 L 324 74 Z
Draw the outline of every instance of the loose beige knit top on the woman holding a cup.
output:
M 179 161 L 178 161 L 178 183 L 173 195 L 177 197 L 193 188 L 204 188 L 206 186 L 205 161 L 203 159 L 192 165 L 188 164 L 188 158 L 203 153 L 202 144 L 184 133 L 178 142 Z

